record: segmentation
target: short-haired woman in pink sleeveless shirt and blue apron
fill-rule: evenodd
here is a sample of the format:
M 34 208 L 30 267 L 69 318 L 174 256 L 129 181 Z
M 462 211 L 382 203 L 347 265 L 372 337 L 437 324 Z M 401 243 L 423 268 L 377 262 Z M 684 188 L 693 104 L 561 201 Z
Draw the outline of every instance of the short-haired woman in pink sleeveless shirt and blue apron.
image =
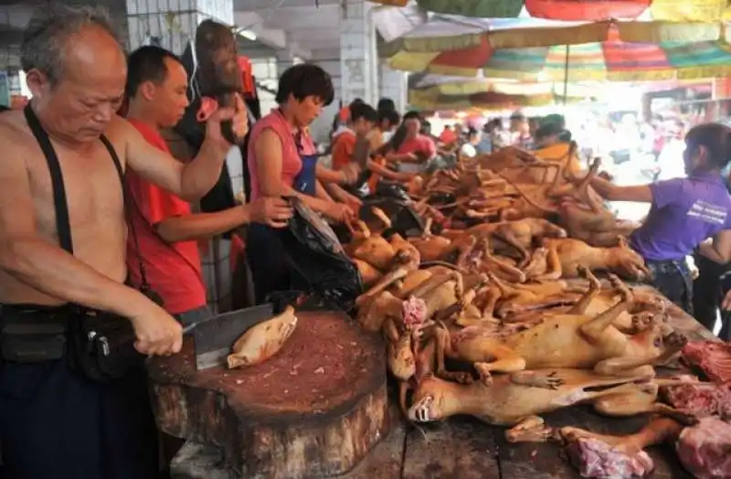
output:
M 330 75 L 316 65 L 295 65 L 282 74 L 277 91 L 279 108 L 251 129 L 249 200 L 297 196 L 327 218 L 348 218 L 350 209 L 335 203 L 317 182 L 317 152 L 306 133 L 307 126 L 333 98 Z M 246 249 L 257 303 L 266 301 L 272 292 L 299 289 L 276 230 L 250 225 Z

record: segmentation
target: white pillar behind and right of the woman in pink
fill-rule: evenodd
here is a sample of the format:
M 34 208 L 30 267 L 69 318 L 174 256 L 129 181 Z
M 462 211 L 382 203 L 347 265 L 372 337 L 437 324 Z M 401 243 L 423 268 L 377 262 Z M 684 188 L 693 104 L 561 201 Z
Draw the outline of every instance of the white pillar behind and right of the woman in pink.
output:
M 340 20 L 341 98 L 344 104 L 361 98 L 378 101 L 376 28 L 370 15 L 372 4 L 344 5 Z

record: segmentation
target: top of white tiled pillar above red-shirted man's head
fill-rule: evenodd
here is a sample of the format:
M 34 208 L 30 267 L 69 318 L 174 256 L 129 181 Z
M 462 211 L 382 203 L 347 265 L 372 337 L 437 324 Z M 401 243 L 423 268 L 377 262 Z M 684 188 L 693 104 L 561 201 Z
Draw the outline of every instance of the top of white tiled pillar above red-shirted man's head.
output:
M 233 0 L 126 0 L 129 48 L 156 42 L 180 55 L 205 19 L 233 25 Z

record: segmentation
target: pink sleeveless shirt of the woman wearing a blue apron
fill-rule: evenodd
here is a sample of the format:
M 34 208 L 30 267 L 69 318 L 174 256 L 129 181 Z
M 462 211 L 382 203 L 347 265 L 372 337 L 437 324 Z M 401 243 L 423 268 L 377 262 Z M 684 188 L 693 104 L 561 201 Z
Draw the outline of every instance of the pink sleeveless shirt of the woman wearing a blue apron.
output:
M 259 187 L 259 168 L 257 167 L 257 154 L 255 145 L 260 134 L 265 130 L 271 130 L 276 133 L 281 141 L 281 182 L 286 186 L 294 185 L 294 178 L 300 174 L 302 170 L 302 159 L 294 142 L 295 133 L 293 128 L 279 108 L 273 109 L 270 114 L 263 117 L 260 121 L 254 123 L 251 128 L 251 136 L 249 137 L 248 165 L 249 179 L 251 182 L 251 197 L 249 201 L 253 201 L 261 196 Z M 300 136 L 301 149 L 304 154 L 314 152 L 314 144 L 310 136 L 302 133 Z

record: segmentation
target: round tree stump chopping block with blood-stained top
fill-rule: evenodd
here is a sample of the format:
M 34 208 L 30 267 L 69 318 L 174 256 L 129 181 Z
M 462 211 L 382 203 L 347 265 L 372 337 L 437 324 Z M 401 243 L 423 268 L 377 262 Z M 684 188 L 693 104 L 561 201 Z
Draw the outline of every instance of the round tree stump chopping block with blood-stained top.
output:
M 297 316 L 281 351 L 257 366 L 197 371 L 192 340 L 151 362 L 160 429 L 220 447 L 242 478 L 353 468 L 390 426 L 384 345 L 344 314 Z

